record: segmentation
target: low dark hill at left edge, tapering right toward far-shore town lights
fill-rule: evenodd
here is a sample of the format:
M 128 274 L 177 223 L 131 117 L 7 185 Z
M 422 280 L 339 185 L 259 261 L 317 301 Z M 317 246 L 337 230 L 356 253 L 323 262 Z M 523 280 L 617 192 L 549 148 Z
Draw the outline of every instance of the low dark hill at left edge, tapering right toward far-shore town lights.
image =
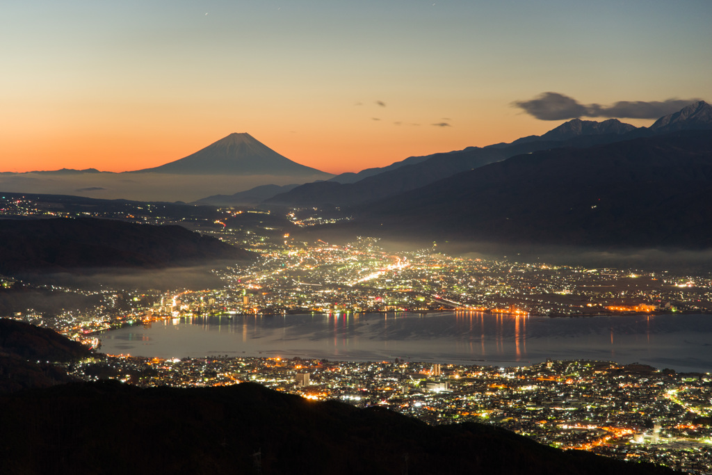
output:
M 1 220 L 0 273 L 167 268 L 251 254 L 181 226 L 109 219 Z

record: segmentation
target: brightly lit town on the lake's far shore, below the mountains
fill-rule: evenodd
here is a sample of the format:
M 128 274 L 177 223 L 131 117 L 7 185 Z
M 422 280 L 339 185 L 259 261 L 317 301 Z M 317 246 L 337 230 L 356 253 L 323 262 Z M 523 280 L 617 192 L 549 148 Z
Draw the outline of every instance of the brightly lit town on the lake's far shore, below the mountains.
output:
M 709 276 L 463 259 L 436 249 L 392 254 L 377 239 L 261 251 L 255 263 L 214 269 L 224 286 L 201 291 L 78 290 L 34 286 L 90 302 L 56 314 L 14 316 L 70 338 L 123 325 L 197 315 L 378 313 L 464 310 L 513 315 L 590 316 L 706 313 Z M 4 287 L 30 284 L 4 278 Z

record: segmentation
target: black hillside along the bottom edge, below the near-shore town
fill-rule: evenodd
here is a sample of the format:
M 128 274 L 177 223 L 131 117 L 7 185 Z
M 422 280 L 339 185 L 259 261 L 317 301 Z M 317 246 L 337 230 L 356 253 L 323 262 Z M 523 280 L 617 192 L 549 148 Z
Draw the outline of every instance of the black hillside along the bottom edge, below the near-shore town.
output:
M 253 383 L 71 383 L 0 397 L 9 474 L 668 474 L 479 424 L 309 402 Z

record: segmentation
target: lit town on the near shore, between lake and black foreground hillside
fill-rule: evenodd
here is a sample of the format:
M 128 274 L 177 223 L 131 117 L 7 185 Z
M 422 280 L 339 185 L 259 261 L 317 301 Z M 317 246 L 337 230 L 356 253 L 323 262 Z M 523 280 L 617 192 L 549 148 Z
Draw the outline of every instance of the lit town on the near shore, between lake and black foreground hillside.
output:
M 549 361 L 527 367 L 404 360 L 330 362 L 295 357 L 160 360 L 98 357 L 70 367 L 87 380 L 151 387 L 258 382 L 308 399 L 377 405 L 429 424 L 474 421 L 543 444 L 689 473 L 712 469 L 712 377 L 646 365 Z

